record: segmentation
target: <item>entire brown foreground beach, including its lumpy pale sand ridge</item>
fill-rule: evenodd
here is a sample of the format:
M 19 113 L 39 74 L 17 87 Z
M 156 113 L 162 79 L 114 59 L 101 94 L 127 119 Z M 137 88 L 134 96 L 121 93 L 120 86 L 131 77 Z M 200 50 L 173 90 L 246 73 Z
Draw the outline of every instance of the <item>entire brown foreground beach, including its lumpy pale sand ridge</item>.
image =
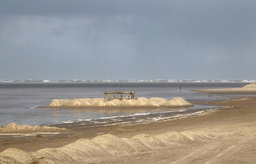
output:
M 147 124 L 59 125 L 73 133 L 1 141 L 0 163 L 256 163 L 256 98 L 213 105 L 233 108 Z

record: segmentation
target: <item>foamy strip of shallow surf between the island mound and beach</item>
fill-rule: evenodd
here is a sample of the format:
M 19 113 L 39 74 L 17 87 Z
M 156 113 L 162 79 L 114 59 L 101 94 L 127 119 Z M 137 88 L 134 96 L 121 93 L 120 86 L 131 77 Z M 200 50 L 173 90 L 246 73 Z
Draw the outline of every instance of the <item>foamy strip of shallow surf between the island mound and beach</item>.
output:
M 63 108 L 65 109 L 65 108 Z M 84 108 L 81 108 L 84 109 Z M 187 107 L 104 107 L 104 108 L 91 108 L 91 109 L 99 109 L 99 110 L 139 110 L 143 111 L 146 109 L 152 109 L 152 111 L 148 111 L 147 113 L 130 113 L 128 115 L 113 115 L 113 116 L 104 116 L 103 118 L 91 118 L 84 120 L 67 120 L 67 122 L 56 122 L 52 124 L 41 124 L 40 126 L 89 126 L 89 127 L 101 127 L 101 126 L 111 126 L 111 125 L 123 125 L 123 124 L 140 124 L 140 123 L 148 123 L 148 122 L 161 122 L 165 120 L 173 120 L 176 118 L 186 118 L 192 115 L 200 115 L 200 113 L 206 113 L 208 111 L 218 111 L 221 109 L 226 109 L 226 107 L 221 106 L 213 106 L 206 105 L 202 102 L 202 104 L 195 104 L 194 106 Z M 126 112 L 125 111 L 125 112 Z M 198 114 L 199 113 L 199 114 Z M 163 116 L 165 115 L 165 116 Z M 121 119 L 119 122 L 115 122 L 113 120 Z M 143 121 L 141 121 L 143 119 Z M 129 120 L 133 120 L 130 122 Z M 92 123 L 97 122 L 97 123 Z M 113 123 L 114 122 L 114 123 Z M 126 123 L 129 122 L 129 123 Z M 108 124 L 110 123 L 110 124 Z

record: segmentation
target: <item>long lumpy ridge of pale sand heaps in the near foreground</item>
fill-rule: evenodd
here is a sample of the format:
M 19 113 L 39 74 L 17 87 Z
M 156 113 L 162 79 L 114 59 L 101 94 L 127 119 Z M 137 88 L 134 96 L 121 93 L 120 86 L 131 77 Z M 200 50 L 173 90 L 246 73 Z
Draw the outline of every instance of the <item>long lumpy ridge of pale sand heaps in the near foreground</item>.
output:
M 115 135 L 99 135 L 93 139 L 78 139 L 60 148 L 44 148 L 36 152 L 24 152 L 8 148 L 0 153 L 0 163 L 91 163 L 106 156 L 148 152 L 158 148 L 180 146 L 193 141 L 205 141 L 214 136 L 202 131 L 169 132 L 162 135 L 135 135 L 119 138 Z

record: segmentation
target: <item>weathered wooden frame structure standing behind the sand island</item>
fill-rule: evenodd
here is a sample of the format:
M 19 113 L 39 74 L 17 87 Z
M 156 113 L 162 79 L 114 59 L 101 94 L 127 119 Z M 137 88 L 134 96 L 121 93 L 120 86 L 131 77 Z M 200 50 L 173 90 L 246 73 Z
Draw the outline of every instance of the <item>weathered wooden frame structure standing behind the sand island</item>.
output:
M 123 98 L 123 94 L 127 94 L 126 97 Z M 119 99 L 119 100 L 128 100 L 134 99 L 135 92 L 134 91 L 108 91 L 104 92 L 104 99 L 106 101 Z

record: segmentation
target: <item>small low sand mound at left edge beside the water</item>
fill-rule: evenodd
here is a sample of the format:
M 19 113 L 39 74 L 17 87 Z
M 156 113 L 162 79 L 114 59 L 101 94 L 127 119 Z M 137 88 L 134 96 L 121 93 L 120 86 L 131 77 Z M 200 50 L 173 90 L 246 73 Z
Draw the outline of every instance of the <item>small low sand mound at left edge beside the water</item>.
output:
M 43 132 L 62 132 L 68 131 L 67 128 L 57 128 L 50 126 L 30 126 L 28 124 L 19 125 L 10 123 L 7 126 L 0 126 L 0 133 L 43 133 Z

